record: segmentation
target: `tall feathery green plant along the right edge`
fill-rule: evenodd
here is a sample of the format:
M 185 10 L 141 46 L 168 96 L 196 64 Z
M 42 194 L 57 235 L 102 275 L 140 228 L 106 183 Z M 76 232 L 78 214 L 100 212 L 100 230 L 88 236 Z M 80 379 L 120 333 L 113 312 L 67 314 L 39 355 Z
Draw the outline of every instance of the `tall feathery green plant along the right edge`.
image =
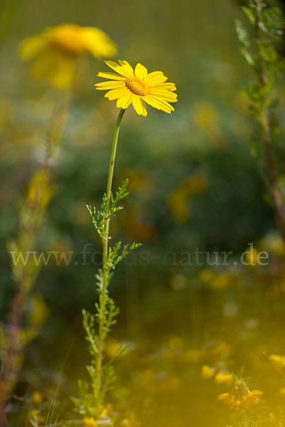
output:
M 284 70 L 284 60 L 279 56 L 276 42 L 284 33 L 285 23 L 281 10 L 262 0 L 247 0 L 242 10 L 249 20 L 249 29 L 240 21 L 236 22 L 240 51 L 256 75 L 256 79 L 243 90 L 259 125 L 259 131 L 252 139 L 252 152 L 261 167 L 276 221 L 285 240 L 285 193 L 279 184 L 284 181 L 285 147 L 279 144 L 281 128 L 275 113 L 279 104 L 276 97 L 278 79 Z

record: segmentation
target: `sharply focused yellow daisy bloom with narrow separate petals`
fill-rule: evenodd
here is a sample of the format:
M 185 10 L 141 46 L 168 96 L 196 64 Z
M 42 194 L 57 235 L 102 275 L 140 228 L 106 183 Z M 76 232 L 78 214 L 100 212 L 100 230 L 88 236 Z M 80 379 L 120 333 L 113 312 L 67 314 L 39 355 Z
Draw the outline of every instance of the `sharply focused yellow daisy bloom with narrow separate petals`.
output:
M 125 110 L 132 103 L 138 115 L 146 116 L 146 103 L 157 110 L 174 111 L 169 102 L 176 102 L 177 95 L 174 83 L 166 83 L 167 77 L 162 71 L 148 73 L 144 65 L 136 64 L 132 68 L 127 60 L 105 61 L 115 73 L 98 73 L 98 77 L 108 78 L 103 83 L 96 83 L 96 89 L 109 90 L 105 94 L 110 101 L 117 100 L 117 107 Z

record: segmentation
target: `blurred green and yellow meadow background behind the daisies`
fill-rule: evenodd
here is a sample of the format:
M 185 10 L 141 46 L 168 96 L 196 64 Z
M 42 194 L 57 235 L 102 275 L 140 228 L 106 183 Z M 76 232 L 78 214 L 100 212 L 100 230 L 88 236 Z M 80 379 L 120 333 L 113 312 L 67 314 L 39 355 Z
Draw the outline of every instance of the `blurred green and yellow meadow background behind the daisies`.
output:
M 217 403 L 217 386 L 201 378 L 201 365 L 208 358 L 212 363 L 227 359 L 230 370 L 244 367 L 252 388 L 262 389 L 274 407 L 284 399 L 279 394 L 284 379 L 263 354 L 284 350 L 284 247 L 251 153 L 253 123 L 239 89 L 252 75 L 239 53 L 236 18 L 243 16 L 235 0 L 0 4 L 4 321 L 13 295 L 7 242 L 17 233 L 18 202 L 43 157 L 57 96 L 46 82 L 31 80 L 29 64 L 18 57 L 19 43 L 60 23 L 96 26 L 117 44 L 114 60 L 163 70 L 176 83 L 173 114 L 149 107 L 143 118 L 132 107 L 127 110 L 114 176 L 116 186 L 128 177 L 130 192 L 112 225 L 114 241 L 143 246 L 119 266 L 112 281 L 120 315 L 109 352 L 117 342 L 131 344 L 118 362 L 118 393 L 127 396 L 142 425 L 230 422 L 225 405 Z M 28 346 L 16 389 L 19 396 L 41 390 L 48 401 L 60 383 L 57 408 L 67 416 L 77 378 L 85 376 L 88 354 L 81 310 L 94 306 L 94 275 L 100 265 L 100 241 L 86 204 L 100 204 L 117 116 L 114 102 L 94 88 L 100 80 L 97 72 L 103 70 L 107 65 L 89 56 L 70 97 L 53 164 L 56 194 L 38 250 L 74 254 L 70 265 L 48 263 L 41 270 L 26 317 L 43 329 Z M 284 88 L 279 94 L 284 100 Z M 282 101 L 279 111 L 282 118 Z M 249 243 L 269 251 L 267 267 L 234 265 Z M 90 254 L 82 265 L 86 245 Z M 181 254 L 197 248 L 232 251 L 230 265 L 181 261 Z M 23 411 L 21 403 L 15 405 L 11 413 Z

